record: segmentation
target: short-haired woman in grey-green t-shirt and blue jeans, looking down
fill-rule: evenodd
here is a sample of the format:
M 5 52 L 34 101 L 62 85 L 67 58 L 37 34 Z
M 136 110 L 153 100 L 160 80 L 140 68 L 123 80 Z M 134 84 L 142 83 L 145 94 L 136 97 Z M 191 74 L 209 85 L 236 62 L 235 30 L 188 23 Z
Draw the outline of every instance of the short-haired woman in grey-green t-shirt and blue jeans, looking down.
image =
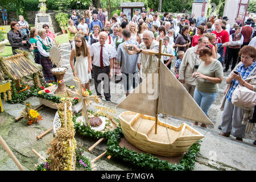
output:
M 217 59 L 212 57 L 212 49 L 210 46 L 202 47 L 197 50 L 197 55 L 202 60 L 197 72 L 192 74 L 196 78 L 196 89 L 194 92 L 194 100 L 208 116 L 209 108 L 216 100 L 218 94 L 218 84 L 223 79 L 223 68 Z M 198 125 L 194 122 L 193 125 Z M 207 127 L 201 123 L 201 127 Z

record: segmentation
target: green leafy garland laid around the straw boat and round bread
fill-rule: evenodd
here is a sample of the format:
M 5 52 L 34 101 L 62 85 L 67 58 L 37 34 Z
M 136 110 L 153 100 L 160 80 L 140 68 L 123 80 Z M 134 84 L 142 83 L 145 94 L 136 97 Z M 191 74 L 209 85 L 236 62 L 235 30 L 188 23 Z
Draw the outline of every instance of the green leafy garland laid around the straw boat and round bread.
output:
M 88 112 L 95 114 L 93 111 Z M 160 160 L 151 154 L 138 154 L 136 151 L 127 149 L 126 147 L 121 148 L 119 146 L 119 140 L 123 137 L 121 127 L 117 127 L 113 131 L 107 131 L 101 133 L 100 131 L 94 131 L 81 123 L 76 123 L 76 118 L 81 114 L 76 114 L 73 116 L 74 128 L 75 130 L 85 136 L 91 138 L 105 138 L 107 142 L 107 154 L 112 155 L 117 159 L 121 159 L 123 162 L 131 163 L 137 168 L 143 168 L 146 170 L 161 170 L 161 171 L 191 171 L 195 167 L 196 156 L 200 151 L 200 142 L 192 144 L 192 146 L 187 150 L 186 154 L 180 160 L 179 164 L 171 164 L 167 160 Z M 118 121 L 118 119 L 115 119 Z M 120 125 L 119 125 L 120 126 Z

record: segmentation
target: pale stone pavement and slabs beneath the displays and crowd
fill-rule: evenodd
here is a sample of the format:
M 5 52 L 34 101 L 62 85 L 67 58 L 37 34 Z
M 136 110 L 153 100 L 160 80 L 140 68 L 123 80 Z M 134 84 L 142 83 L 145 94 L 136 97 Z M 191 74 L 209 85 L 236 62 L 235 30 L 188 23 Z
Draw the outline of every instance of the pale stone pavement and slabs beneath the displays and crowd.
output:
M 74 85 L 72 80 L 73 74 L 71 67 L 69 65 L 69 44 L 63 44 L 64 49 L 64 64 L 69 69 L 65 74 L 64 80 L 65 84 Z M 174 62 L 175 63 L 175 62 Z M 171 71 L 174 72 L 174 63 L 172 63 Z M 238 142 L 234 137 L 229 138 L 222 137 L 218 135 L 220 130 L 217 129 L 218 125 L 221 124 L 220 104 L 222 97 L 224 96 L 225 89 L 225 78 L 228 76 L 229 72 L 224 73 L 224 80 L 219 85 L 219 93 L 216 101 L 210 107 L 209 118 L 214 123 L 214 127 L 208 126 L 207 129 L 200 126 L 193 126 L 192 121 L 186 119 L 180 119 L 169 116 L 168 119 L 163 119 L 162 114 L 159 114 L 160 120 L 171 123 L 174 126 L 180 126 L 181 123 L 185 122 L 189 126 L 194 127 L 205 137 L 201 140 L 201 148 L 199 156 L 196 158 L 195 171 L 216 171 L 216 170 L 255 170 L 256 166 L 256 150 L 255 146 L 252 144 L 256 139 L 255 128 L 251 134 L 246 134 L 243 142 Z M 112 102 L 105 101 L 102 98 L 100 104 L 92 104 L 88 107 L 89 110 L 97 111 L 96 105 L 101 105 L 114 109 L 116 113 L 114 117 L 118 118 L 118 115 L 124 111 L 118 109 L 116 106 L 124 98 L 125 93 L 123 92 L 122 81 L 115 84 L 114 81 L 110 82 L 110 93 L 112 95 Z M 96 94 L 93 82 L 90 83 L 90 90 L 93 94 Z M 38 106 L 39 102 L 37 98 L 28 98 L 32 106 Z M 14 109 L 15 108 L 15 109 Z M 22 111 L 24 105 L 22 104 L 7 104 L 3 102 L 4 112 L 0 113 L 0 135 L 5 139 L 6 143 L 9 145 L 11 150 L 14 152 L 20 163 L 24 166 L 26 170 L 34 170 L 35 164 L 40 162 L 40 159 L 31 151 L 35 149 L 42 156 L 46 157 L 47 143 L 52 139 L 52 133 L 47 134 L 40 140 L 36 140 L 36 136 L 42 134 L 52 127 L 53 118 L 57 110 L 50 109 L 49 107 L 41 107 L 38 111 L 43 116 L 43 121 L 33 124 L 31 126 L 27 125 L 25 119 L 18 122 L 14 121 L 14 118 L 19 116 L 20 111 Z M 82 147 L 85 151 L 96 142 L 95 139 L 85 138 L 76 134 L 77 144 Z M 101 142 L 92 152 L 85 152 L 85 156 L 91 159 L 100 155 L 106 150 L 106 142 Z M 7 153 L 0 147 L 0 170 L 18 170 L 15 163 L 7 155 Z M 111 158 L 106 159 L 106 155 L 100 160 L 97 160 L 97 170 L 102 171 L 114 171 L 114 170 L 133 170 L 129 164 L 122 163 L 116 159 Z

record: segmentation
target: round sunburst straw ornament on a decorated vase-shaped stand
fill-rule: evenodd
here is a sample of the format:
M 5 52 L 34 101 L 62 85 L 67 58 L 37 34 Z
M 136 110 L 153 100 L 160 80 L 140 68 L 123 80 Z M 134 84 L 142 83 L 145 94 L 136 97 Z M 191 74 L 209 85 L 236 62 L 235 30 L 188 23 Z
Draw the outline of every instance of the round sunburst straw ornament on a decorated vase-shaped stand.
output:
M 56 46 L 51 46 L 51 49 L 49 51 L 52 64 L 56 65 L 56 68 L 52 68 L 51 72 L 53 75 L 57 77 L 57 83 L 58 83 L 58 88 L 55 90 L 55 93 L 65 93 L 66 92 L 66 87 L 64 84 L 64 75 L 65 72 L 67 72 L 68 68 L 67 67 L 60 67 L 61 64 L 63 64 L 63 59 L 62 59 L 62 54 L 61 54 L 61 49 L 60 45 L 58 43 L 55 43 Z

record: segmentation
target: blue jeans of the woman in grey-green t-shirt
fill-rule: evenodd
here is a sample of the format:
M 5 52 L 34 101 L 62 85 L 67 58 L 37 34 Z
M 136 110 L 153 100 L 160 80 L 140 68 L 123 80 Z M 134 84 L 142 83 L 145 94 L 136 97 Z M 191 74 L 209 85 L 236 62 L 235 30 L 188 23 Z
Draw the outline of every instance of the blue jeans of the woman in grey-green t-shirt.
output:
M 216 93 L 205 93 L 205 92 L 199 92 L 197 89 L 195 89 L 194 92 L 194 100 L 196 103 L 200 106 L 200 108 L 204 111 L 204 113 L 208 116 L 210 106 L 213 104 L 213 102 L 216 100 L 218 92 Z

